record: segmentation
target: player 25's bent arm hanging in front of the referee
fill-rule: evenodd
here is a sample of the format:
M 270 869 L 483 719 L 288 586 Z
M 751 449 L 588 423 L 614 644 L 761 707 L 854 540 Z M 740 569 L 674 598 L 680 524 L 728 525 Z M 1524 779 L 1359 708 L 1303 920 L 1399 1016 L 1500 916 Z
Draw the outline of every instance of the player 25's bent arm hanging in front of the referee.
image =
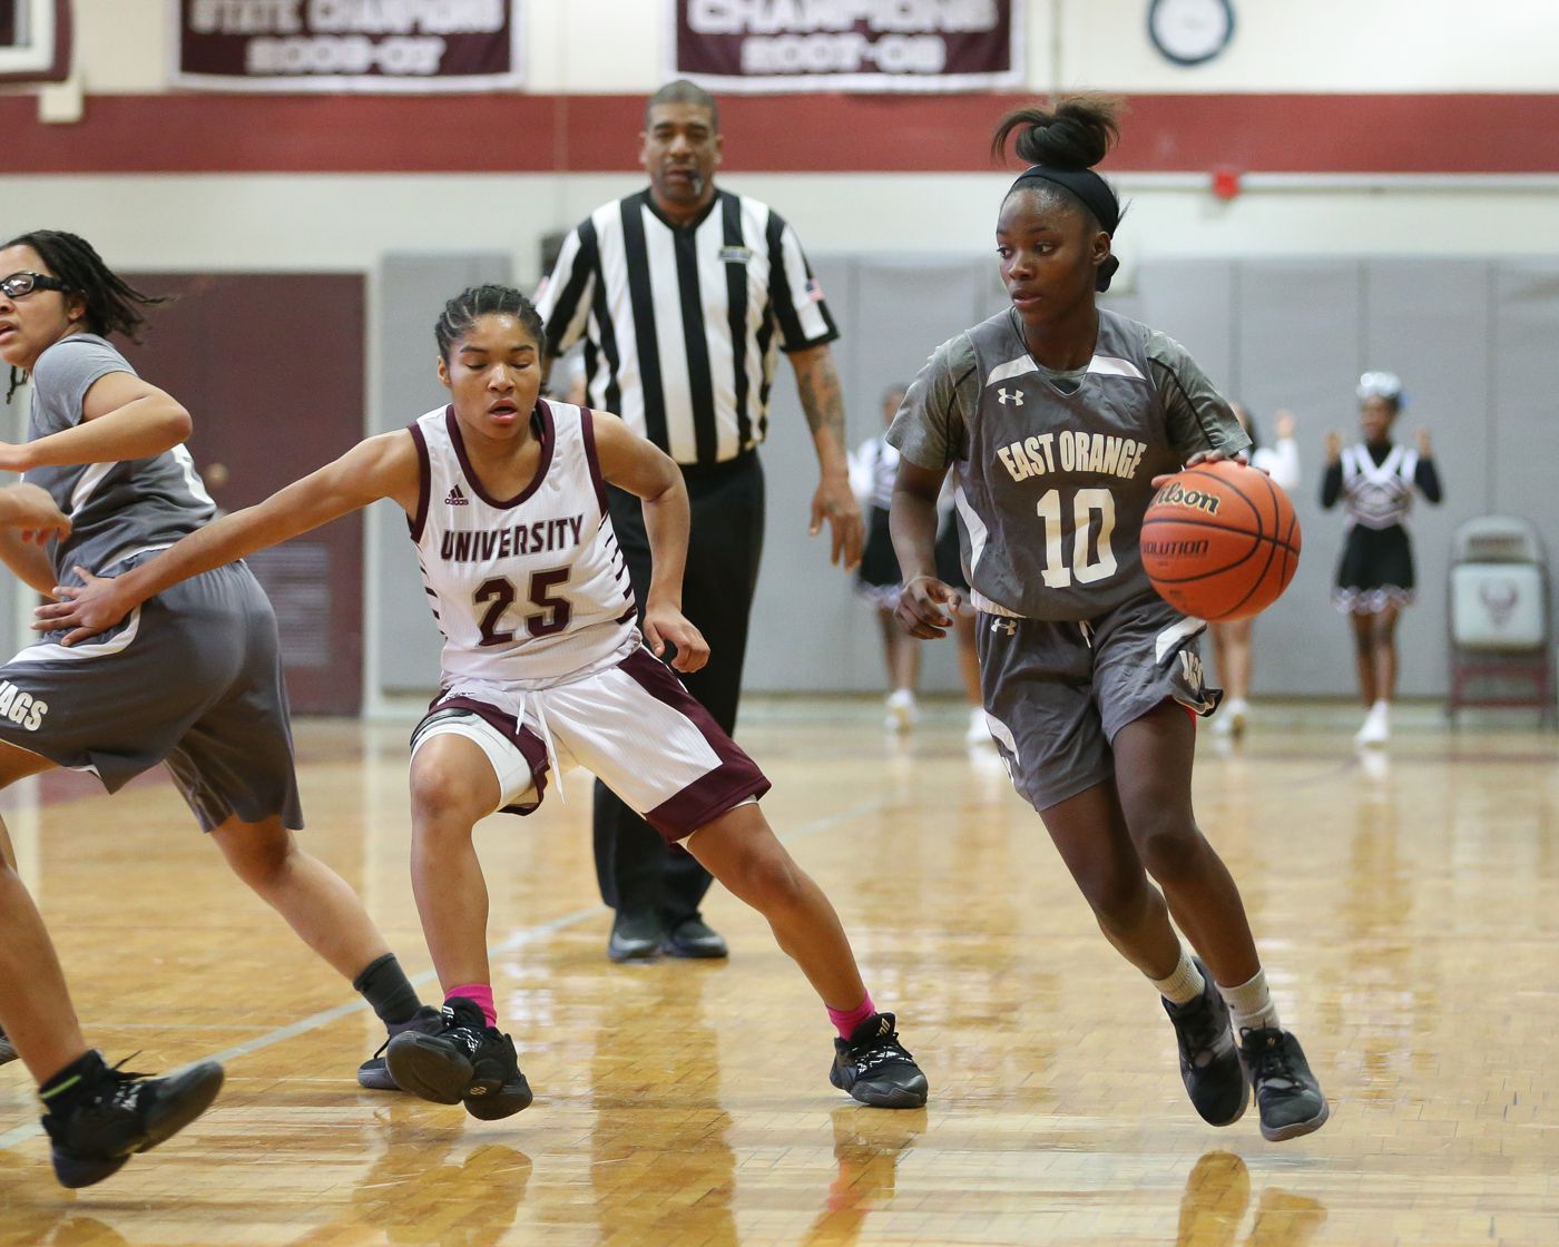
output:
M 650 539 L 650 591 L 644 599 L 644 639 L 656 658 L 670 642 L 672 667 L 695 672 L 709 661 L 703 634 L 681 613 L 681 581 L 688 566 L 692 513 L 681 469 L 658 446 L 645 441 L 606 412 L 596 412 L 596 458 L 600 474 L 619 489 L 644 500 L 644 533 Z

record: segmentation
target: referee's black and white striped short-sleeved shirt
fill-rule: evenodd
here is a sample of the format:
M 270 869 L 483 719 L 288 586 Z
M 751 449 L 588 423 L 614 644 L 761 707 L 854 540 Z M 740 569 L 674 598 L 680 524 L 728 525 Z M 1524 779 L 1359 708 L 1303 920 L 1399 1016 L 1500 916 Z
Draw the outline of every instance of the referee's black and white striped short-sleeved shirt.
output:
M 589 404 L 683 465 L 758 446 L 776 352 L 839 337 L 795 231 L 723 190 L 686 226 L 661 217 L 649 190 L 596 209 L 564 240 L 536 307 L 552 354 L 585 340 Z

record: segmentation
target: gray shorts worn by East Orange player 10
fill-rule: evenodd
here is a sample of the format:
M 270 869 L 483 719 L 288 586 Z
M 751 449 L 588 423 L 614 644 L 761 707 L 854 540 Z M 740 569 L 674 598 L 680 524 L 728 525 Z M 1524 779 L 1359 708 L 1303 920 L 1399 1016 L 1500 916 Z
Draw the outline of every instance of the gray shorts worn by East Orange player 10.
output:
M 1079 624 L 982 613 L 985 719 L 1018 793 L 1043 811 L 1110 779 L 1115 734 L 1160 701 L 1211 714 L 1224 694 L 1202 680 L 1205 628 L 1158 594 Z

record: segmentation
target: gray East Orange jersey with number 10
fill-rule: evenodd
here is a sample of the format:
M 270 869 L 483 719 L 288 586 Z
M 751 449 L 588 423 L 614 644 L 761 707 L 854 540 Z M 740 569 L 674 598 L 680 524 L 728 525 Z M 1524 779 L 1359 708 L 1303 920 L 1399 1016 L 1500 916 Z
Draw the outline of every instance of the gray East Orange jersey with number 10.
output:
M 1010 312 L 968 330 L 981 379 L 957 463 L 965 567 L 974 605 L 1077 620 L 1151 592 L 1143 513 L 1152 479 L 1177 472 L 1144 324 L 1099 309 L 1099 340 L 1077 391 L 1029 355 Z

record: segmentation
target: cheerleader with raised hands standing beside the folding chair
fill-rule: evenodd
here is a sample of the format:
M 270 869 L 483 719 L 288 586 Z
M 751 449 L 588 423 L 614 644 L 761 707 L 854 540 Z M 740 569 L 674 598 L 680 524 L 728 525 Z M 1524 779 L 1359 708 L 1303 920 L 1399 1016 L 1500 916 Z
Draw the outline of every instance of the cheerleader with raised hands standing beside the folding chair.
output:
M 1395 374 L 1366 373 L 1358 396 L 1364 440 L 1344 449 L 1339 433 L 1327 433 L 1320 505 L 1331 508 L 1341 499 L 1347 511 L 1331 600 L 1353 624 L 1359 695 L 1367 706 L 1353 742 L 1383 745 L 1391 736 L 1391 698 L 1397 691 L 1397 616 L 1414 597 L 1412 546 L 1403 521 L 1412 508 L 1414 486 L 1436 503 L 1442 493 L 1428 430 L 1414 435 L 1417 449 L 1391 440 L 1403 405 Z

